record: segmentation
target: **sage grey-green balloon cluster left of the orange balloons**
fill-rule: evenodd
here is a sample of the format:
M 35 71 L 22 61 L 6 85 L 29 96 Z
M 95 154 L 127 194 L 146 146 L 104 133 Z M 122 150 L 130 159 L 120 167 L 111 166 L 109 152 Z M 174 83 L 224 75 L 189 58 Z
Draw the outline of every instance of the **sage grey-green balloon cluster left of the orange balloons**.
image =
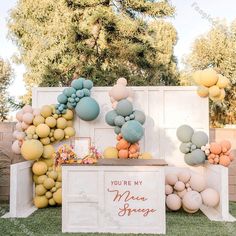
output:
M 201 147 L 208 143 L 207 134 L 203 131 L 194 131 L 189 125 L 182 125 L 177 129 L 176 135 L 182 142 L 179 149 L 185 154 L 185 162 L 190 166 L 203 164 L 207 157 Z

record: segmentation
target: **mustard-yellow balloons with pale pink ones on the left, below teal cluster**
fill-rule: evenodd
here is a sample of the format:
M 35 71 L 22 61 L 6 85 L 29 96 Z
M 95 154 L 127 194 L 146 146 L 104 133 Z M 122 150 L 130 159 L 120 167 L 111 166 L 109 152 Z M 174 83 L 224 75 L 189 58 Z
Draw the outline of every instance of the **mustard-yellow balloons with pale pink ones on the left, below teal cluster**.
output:
M 61 169 L 54 167 L 52 143 L 75 135 L 73 117 L 70 109 L 57 114 L 55 105 L 45 105 L 41 109 L 26 105 L 16 114 L 18 123 L 12 150 L 26 160 L 35 161 L 32 172 L 37 208 L 61 204 Z

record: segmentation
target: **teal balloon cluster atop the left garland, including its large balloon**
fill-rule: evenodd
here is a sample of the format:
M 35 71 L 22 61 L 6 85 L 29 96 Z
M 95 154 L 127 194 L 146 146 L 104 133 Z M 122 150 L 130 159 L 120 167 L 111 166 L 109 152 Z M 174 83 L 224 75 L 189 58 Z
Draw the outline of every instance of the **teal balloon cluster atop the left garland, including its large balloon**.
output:
M 88 79 L 74 79 L 71 87 L 65 88 L 57 97 L 56 113 L 64 114 L 66 109 L 75 109 L 80 119 L 91 121 L 98 117 L 100 108 L 97 101 L 90 97 L 93 82 Z

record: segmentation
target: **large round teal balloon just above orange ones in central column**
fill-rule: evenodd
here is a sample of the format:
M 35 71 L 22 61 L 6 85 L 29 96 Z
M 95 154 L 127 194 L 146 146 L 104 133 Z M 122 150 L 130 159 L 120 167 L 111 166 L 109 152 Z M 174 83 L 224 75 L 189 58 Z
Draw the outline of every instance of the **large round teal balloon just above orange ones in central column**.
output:
M 121 128 L 123 138 L 130 142 L 136 143 L 143 137 L 143 127 L 136 120 L 127 121 Z

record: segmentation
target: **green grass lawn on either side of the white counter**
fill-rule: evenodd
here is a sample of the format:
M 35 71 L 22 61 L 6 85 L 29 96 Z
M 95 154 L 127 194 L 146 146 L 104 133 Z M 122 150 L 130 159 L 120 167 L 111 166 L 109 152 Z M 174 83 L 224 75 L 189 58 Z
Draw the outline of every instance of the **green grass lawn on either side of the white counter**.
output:
M 0 205 L 0 214 L 8 210 L 7 204 Z M 230 203 L 230 212 L 236 217 L 236 203 Z M 211 222 L 200 211 L 193 215 L 183 211 L 167 212 L 166 235 L 236 236 L 236 223 Z M 27 232 L 27 233 L 26 233 Z M 28 218 L 0 218 L 0 235 L 69 235 L 61 233 L 61 208 L 46 208 L 34 212 Z M 70 235 L 98 235 L 70 234 Z M 114 234 L 99 234 L 108 236 Z

